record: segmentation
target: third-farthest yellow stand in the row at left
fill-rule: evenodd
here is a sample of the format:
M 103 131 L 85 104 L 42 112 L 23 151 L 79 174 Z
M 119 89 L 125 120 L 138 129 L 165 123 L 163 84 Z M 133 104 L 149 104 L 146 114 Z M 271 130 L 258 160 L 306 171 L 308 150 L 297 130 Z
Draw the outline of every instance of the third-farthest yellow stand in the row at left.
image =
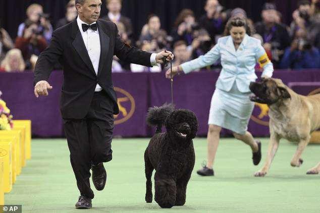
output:
M 2 137 L 15 136 L 16 137 L 16 174 L 21 173 L 21 130 L 0 130 L 0 141 Z

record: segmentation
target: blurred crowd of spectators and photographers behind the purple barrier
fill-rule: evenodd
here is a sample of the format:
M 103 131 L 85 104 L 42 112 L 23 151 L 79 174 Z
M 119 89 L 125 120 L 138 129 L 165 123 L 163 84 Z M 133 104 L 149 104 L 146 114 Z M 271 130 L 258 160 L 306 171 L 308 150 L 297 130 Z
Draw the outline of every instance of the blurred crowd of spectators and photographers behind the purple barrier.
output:
M 225 35 L 225 25 L 230 17 L 240 16 L 248 20 L 275 69 L 318 69 L 320 68 L 320 16 L 316 3 L 320 0 L 300 0 L 292 13 L 292 22 L 288 26 L 283 22 L 282 14 L 273 3 L 265 3 L 261 11 L 261 21 L 254 23 L 241 8 L 224 8 L 218 0 L 207 0 L 205 14 L 196 17 L 190 9 L 177 14 L 174 27 L 170 32 L 162 29 L 156 14 L 150 14 L 137 40 L 133 38 L 130 18 L 121 14 L 122 0 L 106 0 L 108 15 L 102 20 L 117 24 L 122 40 L 149 52 L 170 50 L 175 59 L 173 66 L 196 59 L 204 55 Z M 13 40 L 8 32 L 0 29 L 0 72 L 23 72 L 34 69 L 37 57 L 48 45 L 52 31 L 76 19 L 78 13 L 75 0 L 65 7 L 65 17 L 55 26 L 50 22 L 50 14 L 43 12 L 39 4 L 32 4 L 26 10 L 27 19 L 17 29 Z M 61 69 L 57 64 L 55 69 Z M 221 68 L 218 60 L 202 69 Z M 124 63 L 114 56 L 113 72 L 161 72 L 165 68 L 144 67 Z M 256 70 L 259 70 L 256 66 Z

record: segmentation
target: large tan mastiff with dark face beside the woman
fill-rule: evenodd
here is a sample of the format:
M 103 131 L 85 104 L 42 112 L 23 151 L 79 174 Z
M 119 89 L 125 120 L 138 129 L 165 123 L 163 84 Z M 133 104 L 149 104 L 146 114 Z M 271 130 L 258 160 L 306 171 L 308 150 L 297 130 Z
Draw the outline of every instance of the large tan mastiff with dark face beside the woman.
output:
M 250 100 L 266 103 L 269 107 L 270 142 L 263 167 L 254 176 L 262 177 L 268 172 L 279 141 L 285 138 L 298 142 L 298 147 L 291 159 L 291 166 L 299 167 L 304 148 L 309 143 L 310 133 L 320 128 L 320 94 L 303 96 L 287 87 L 281 79 L 264 78 L 261 82 L 251 82 L 250 90 L 254 95 Z M 307 171 L 318 174 L 320 163 Z

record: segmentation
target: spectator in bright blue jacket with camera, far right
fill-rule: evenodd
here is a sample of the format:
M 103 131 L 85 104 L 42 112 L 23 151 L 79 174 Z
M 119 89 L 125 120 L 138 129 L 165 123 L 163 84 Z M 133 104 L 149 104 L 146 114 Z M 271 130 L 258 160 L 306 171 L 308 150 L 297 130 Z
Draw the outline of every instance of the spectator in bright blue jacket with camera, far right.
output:
M 281 69 L 320 68 L 319 49 L 308 43 L 306 31 L 298 29 L 291 46 L 287 47 L 281 60 Z

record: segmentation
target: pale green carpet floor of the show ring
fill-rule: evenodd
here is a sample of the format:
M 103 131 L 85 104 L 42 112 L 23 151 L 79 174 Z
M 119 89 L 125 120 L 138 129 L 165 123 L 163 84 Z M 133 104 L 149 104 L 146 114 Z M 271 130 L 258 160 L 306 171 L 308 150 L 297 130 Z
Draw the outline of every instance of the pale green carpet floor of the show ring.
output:
M 249 146 L 234 138 L 219 144 L 215 176 L 196 170 L 206 159 L 206 139 L 195 138 L 195 168 L 183 206 L 164 209 L 146 203 L 143 153 L 148 138 L 114 139 L 113 160 L 103 191 L 94 189 L 91 209 L 75 209 L 79 191 L 69 161 L 66 139 L 32 139 L 32 156 L 10 193 L 6 205 L 22 205 L 22 212 L 320 212 L 320 176 L 306 171 L 320 160 L 320 144 L 309 144 L 300 168 L 290 166 L 296 144 L 281 140 L 265 177 L 254 177 L 265 161 L 269 138 L 260 138 L 262 159 L 253 166 Z M 153 178 L 152 178 L 153 180 Z M 93 185 L 92 185 L 93 187 Z M 94 188 L 94 187 L 93 187 Z

